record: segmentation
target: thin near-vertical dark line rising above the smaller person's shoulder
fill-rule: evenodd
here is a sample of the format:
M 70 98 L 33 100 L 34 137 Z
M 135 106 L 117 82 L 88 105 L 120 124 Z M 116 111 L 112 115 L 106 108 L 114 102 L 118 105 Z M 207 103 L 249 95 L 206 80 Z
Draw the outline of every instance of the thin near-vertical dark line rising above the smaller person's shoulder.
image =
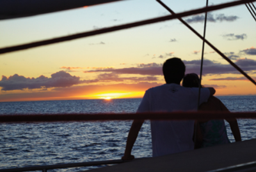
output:
M 206 7 L 207 6 L 208 6 L 208 0 L 206 0 Z M 199 106 L 200 106 L 200 93 L 201 93 L 202 71 L 203 71 L 203 62 L 204 62 L 204 44 L 205 44 L 206 22 L 207 22 L 207 11 L 205 12 L 205 18 L 204 18 L 204 39 L 203 39 L 203 46 L 202 46 L 200 78 L 199 78 L 199 85 L 198 85 L 199 91 L 198 91 L 197 110 L 199 109 Z

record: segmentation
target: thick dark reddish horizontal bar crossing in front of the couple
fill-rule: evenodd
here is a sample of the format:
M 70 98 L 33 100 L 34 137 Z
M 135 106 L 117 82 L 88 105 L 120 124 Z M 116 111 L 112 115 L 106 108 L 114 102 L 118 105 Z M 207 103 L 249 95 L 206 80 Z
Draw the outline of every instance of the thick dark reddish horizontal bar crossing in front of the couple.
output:
M 82 122 L 96 120 L 211 120 L 223 118 L 256 118 L 256 112 L 177 111 L 169 113 L 66 113 L 37 115 L 0 115 L 0 122 Z

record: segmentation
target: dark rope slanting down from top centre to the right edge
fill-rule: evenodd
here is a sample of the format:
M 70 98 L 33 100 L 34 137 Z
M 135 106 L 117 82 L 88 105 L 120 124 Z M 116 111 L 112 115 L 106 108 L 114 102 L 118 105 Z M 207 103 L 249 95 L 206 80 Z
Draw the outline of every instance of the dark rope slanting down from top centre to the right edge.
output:
M 175 15 L 175 12 L 172 11 L 168 6 L 166 6 L 166 4 L 162 3 L 160 0 L 156 0 L 159 4 L 161 4 L 166 10 L 168 10 L 170 13 L 172 13 L 172 15 Z M 208 7 L 209 8 L 209 7 Z M 187 24 L 184 20 L 182 20 L 182 18 L 178 17 L 178 19 L 180 20 L 180 22 L 182 22 L 182 24 L 186 25 L 186 27 L 188 27 L 192 32 L 194 32 L 200 39 L 204 39 L 203 36 L 201 36 L 195 29 L 193 29 L 193 27 L 191 27 L 189 24 Z M 223 59 L 225 59 L 227 62 L 229 62 L 229 64 L 231 64 L 231 66 L 233 66 L 234 68 L 237 69 L 237 71 L 239 71 L 241 74 L 243 74 L 248 80 L 250 80 L 254 85 L 256 85 L 255 80 L 253 80 L 249 75 L 247 75 L 241 68 L 239 68 L 234 62 L 232 62 L 230 59 L 228 59 L 228 57 L 226 55 L 224 55 L 223 53 L 220 52 L 220 50 L 218 50 L 218 48 L 214 47 L 209 41 L 207 41 L 207 39 L 204 39 L 205 43 L 207 43 L 207 45 L 209 45 L 209 47 L 211 47 L 216 53 L 218 53 L 221 57 L 223 57 Z

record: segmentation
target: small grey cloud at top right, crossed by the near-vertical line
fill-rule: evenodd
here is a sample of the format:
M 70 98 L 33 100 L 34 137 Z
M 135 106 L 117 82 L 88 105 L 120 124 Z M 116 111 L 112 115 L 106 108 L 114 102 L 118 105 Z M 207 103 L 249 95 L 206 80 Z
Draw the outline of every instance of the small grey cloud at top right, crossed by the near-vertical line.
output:
M 207 22 L 233 22 L 237 20 L 236 15 L 230 15 L 230 16 L 225 16 L 225 14 L 216 14 L 212 15 L 212 13 L 207 14 Z M 194 15 L 193 17 L 187 18 L 185 21 L 188 23 L 198 23 L 198 22 L 204 22 L 205 15 Z

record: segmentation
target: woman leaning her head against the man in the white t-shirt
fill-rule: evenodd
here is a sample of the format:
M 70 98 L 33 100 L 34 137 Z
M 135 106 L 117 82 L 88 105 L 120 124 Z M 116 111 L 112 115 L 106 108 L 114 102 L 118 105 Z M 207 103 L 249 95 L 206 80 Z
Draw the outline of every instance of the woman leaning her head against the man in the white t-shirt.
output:
M 184 76 L 182 81 L 183 87 L 199 87 L 199 78 L 195 73 L 189 73 Z M 207 103 L 200 105 L 200 111 L 228 111 L 227 107 L 220 99 L 211 96 Z M 241 134 L 236 118 L 225 119 L 230 125 L 230 129 L 236 141 L 241 141 Z M 195 148 L 211 147 L 230 143 L 227 136 L 227 129 L 224 120 L 198 120 L 196 123 L 196 143 Z

